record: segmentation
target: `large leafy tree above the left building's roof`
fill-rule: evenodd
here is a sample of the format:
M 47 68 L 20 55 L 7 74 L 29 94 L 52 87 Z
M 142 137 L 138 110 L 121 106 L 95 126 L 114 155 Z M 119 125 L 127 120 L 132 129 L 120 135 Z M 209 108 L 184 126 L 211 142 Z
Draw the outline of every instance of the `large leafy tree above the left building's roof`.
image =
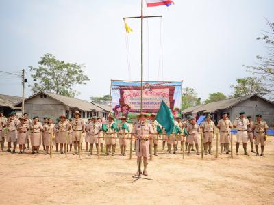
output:
M 75 97 L 79 92 L 73 90 L 74 85 L 86 84 L 90 80 L 84 74 L 84 64 L 66 63 L 46 53 L 38 62 L 38 68 L 29 66 L 34 84 L 33 92 L 53 92 L 63 96 Z

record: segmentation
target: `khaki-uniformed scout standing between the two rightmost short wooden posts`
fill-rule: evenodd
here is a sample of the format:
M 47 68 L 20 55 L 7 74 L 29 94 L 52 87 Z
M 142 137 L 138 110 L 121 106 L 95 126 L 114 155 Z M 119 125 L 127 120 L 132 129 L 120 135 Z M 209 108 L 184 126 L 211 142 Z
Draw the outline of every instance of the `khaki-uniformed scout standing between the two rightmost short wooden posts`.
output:
M 217 127 L 220 131 L 220 143 L 221 143 L 221 153 L 223 153 L 224 147 L 226 154 L 229 154 L 229 143 L 230 143 L 230 129 L 232 128 L 232 122 L 228 119 L 226 112 L 222 113 L 223 118 L 219 120 Z

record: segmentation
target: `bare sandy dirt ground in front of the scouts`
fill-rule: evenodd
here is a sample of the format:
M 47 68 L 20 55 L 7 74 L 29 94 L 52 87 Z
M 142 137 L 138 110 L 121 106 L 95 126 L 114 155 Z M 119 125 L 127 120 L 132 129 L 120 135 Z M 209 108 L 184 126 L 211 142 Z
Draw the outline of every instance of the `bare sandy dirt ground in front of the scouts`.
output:
M 216 150 L 216 143 L 213 149 Z M 28 151 L 29 152 L 29 151 Z M 0 204 L 274 204 L 274 137 L 266 157 L 162 152 L 132 184 L 136 157 L 0 153 Z M 250 146 L 249 146 L 250 152 Z

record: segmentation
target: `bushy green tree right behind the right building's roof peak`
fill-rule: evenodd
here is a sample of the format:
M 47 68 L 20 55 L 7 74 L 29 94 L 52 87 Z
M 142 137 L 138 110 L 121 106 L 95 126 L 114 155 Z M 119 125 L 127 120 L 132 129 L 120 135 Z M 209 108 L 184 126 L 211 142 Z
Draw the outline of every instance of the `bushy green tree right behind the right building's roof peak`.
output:
M 248 96 L 251 94 L 265 94 L 270 91 L 264 87 L 262 83 L 262 79 L 258 77 L 246 77 L 242 79 L 236 79 L 237 85 L 231 85 L 234 89 L 234 93 L 232 94 L 232 98 L 236 98 L 239 96 Z

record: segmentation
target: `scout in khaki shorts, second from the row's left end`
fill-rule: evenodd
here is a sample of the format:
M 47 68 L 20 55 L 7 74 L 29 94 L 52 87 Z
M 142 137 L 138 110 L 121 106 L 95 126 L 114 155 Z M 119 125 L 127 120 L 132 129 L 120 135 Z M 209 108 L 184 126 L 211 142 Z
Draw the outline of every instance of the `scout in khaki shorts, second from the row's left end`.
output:
M 8 127 L 8 132 L 7 132 L 7 139 L 6 141 L 8 142 L 8 150 L 7 152 L 11 152 L 10 148 L 13 143 L 13 150 L 12 152 L 15 153 L 15 148 L 16 148 L 16 126 L 18 125 L 18 122 L 14 120 L 14 114 L 10 113 L 8 122 L 7 122 L 7 127 Z

